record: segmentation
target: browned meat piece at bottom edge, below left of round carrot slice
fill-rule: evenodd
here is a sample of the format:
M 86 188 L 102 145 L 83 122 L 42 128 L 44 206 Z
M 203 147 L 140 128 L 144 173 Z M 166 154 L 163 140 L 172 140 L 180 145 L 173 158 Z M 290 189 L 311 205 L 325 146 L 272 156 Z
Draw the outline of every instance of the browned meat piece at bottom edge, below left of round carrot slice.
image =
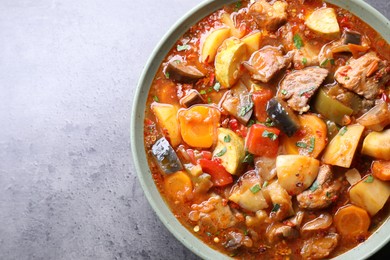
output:
M 301 255 L 305 259 L 327 257 L 336 248 L 338 242 L 337 233 L 329 233 L 324 237 L 312 237 L 304 242 Z

